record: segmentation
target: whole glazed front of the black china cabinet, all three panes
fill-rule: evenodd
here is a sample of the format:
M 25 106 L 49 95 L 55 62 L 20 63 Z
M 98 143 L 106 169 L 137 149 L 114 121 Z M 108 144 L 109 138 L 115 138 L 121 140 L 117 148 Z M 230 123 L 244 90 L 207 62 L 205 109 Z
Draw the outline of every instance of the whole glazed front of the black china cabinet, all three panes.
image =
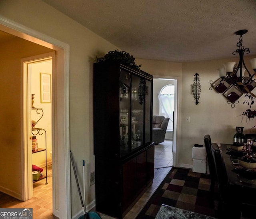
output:
M 120 157 L 152 141 L 152 81 L 120 70 Z

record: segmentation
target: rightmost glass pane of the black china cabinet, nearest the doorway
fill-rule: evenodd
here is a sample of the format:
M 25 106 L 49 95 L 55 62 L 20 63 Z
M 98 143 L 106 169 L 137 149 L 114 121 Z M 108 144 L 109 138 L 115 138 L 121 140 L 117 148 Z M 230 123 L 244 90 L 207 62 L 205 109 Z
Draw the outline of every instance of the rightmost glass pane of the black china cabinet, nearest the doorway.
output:
M 152 82 L 145 80 L 145 144 L 149 143 L 150 133 L 152 131 L 152 121 L 151 121 L 151 86 Z

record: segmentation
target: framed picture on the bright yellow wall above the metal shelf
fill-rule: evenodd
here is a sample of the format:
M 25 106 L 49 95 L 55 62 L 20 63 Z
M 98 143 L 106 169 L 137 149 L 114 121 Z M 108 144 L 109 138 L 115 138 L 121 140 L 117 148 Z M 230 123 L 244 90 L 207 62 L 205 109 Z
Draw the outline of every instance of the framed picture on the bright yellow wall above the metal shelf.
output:
M 40 93 L 41 93 L 41 103 L 51 103 L 51 74 L 40 73 Z

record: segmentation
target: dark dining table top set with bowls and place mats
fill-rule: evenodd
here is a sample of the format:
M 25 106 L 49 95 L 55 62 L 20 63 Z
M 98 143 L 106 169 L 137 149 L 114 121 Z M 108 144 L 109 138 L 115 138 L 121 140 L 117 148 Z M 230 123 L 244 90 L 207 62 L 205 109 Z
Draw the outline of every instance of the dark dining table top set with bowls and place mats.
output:
M 238 162 L 246 152 L 234 151 L 231 149 L 230 144 L 224 143 L 220 144 L 220 150 L 222 151 L 229 185 L 232 187 L 241 187 L 256 194 L 256 170 L 242 168 Z M 252 156 L 255 158 L 256 153 L 252 152 Z

